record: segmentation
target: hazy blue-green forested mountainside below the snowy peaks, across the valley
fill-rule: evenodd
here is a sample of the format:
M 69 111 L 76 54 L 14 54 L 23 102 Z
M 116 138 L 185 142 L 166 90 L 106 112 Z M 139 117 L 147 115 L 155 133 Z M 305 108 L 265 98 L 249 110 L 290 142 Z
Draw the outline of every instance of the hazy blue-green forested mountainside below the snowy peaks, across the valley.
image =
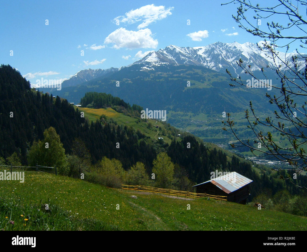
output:
M 115 85 L 116 81 L 120 82 L 119 87 Z M 230 82 L 227 74 L 200 66 L 159 66 L 155 71 L 140 71 L 137 66 L 131 66 L 108 78 L 63 87 L 57 94 L 70 102 L 79 103 L 87 92 L 106 92 L 130 104 L 163 109 L 167 111 L 167 122 L 172 126 L 188 131 L 205 142 L 228 148 L 228 142 L 236 138 L 222 130 L 223 112 L 230 113 L 235 119 L 240 138 L 252 136 L 244 117 L 250 101 L 260 119 L 274 113 L 265 97 L 267 90 L 231 87 Z M 55 92 L 52 89 L 48 91 Z

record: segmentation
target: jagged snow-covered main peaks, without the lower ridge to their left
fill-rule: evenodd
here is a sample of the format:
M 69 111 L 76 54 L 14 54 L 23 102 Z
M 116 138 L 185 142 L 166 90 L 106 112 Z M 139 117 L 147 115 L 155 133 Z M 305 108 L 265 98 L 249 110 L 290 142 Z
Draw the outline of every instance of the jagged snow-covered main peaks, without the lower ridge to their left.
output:
M 259 44 L 260 45 L 260 44 Z M 266 55 L 267 54 L 267 55 Z M 292 56 L 295 53 L 279 52 L 280 58 L 292 62 Z M 298 55 L 298 54 L 296 54 Z M 134 62 L 132 65 L 140 65 L 142 70 L 154 69 L 155 66 L 165 64 L 185 64 L 204 66 L 220 73 L 225 73 L 228 69 L 234 75 L 244 73 L 242 68 L 237 65 L 237 61 L 242 58 L 245 66 L 250 65 L 250 70 L 260 71 L 261 68 L 266 69 L 266 66 L 275 66 L 270 54 L 258 48 L 256 44 L 246 42 L 239 44 L 215 42 L 207 46 L 199 47 L 179 47 L 174 45 L 166 46 L 165 49 L 160 49 L 147 54 L 141 60 Z M 301 59 L 300 70 L 305 67 L 305 60 Z M 292 64 L 293 66 L 293 64 Z M 272 71 L 273 72 L 273 71 Z

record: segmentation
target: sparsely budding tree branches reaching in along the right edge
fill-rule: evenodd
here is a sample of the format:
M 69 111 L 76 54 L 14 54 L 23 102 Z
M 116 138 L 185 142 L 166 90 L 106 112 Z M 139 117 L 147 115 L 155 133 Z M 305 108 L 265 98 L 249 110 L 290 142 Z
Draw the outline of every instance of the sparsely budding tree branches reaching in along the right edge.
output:
M 292 50 L 293 46 L 297 45 L 303 49 L 307 48 L 307 2 L 275 0 L 264 2 L 264 6 L 246 0 L 234 0 L 230 3 L 239 5 L 237 14 L 233 15 L 234 20 L 239 23 L 239 27 L 264 39 L 264 42 L 258 43 L 258 47 L 273 62 L 267 67 L 276 72 L 280 84 L 273 84 L 272 92 L 266 93 L 270 104 L 276 107 L 274 115 L 269 115 L 262 120 L 258 117 L 251 102 L 250 110 L 245 111 L 247 127 L 253 134 L 252 139 L 240 139 L 237 136 L 235 122 L 231 120 L 229 113 L 227 121 L 223 122 L 225 125 L 223 129 L 233 134 L 239 141 L 238 144 L 232 145 L 233 147 L 247 146 L 256 156 L 274 157 L 289 162 L 292 166 L 289 170 L 300 174 L 303 170 L 307 170 L 307 111 L 305 108 L 307 54 L 302 54 L 295 48 L 295 53 L 291 57 L 287 55 L 290 55 L 290 46 L 292 46 Z M 259 24 L 259 20 L 262 21 L 262 24 Z M 285 52 L 280 53 L 278 50 L 285 50 Z M 244 63 L 243 59 L 240 59 L 237 64 L 247 75 L 243 78 L 232 76 L 227 70 L 231 80 L 239 84 L 230 84 L 231 86 L 247 86 L 247 83 L 244 82 L 246 76 L 253 77 L 258 81 L 268 79 L 263 68 L 261 69 L 263 76 L 256 76 L 251 70 L 251 66 Z M 273 92 L 274 90 L 277 92 Z M 261 130 L 263 128 L 265 131 Z M 273 136 L 272 130 L 285 137 L 288 145 L 284 141 L 279 142 L 278 138 Z M 275 169 L 280 168 L 275 167 Z

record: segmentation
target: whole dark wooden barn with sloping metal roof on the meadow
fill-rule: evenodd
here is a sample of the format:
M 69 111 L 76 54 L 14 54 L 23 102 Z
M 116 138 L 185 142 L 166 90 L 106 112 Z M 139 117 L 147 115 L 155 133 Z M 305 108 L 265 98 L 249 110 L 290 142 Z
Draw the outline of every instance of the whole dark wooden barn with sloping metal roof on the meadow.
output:
M 245 204 L 251 182 L 251 179 L 233 171 L 193 187 L 196 187 L 196 193 L 199 194 L 227 196 L 227 201 Z

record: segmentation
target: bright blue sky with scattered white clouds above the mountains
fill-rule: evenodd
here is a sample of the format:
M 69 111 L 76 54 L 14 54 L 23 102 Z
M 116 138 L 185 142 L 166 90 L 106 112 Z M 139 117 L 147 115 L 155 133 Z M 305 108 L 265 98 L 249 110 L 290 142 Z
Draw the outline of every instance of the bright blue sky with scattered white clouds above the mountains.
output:
M 221 6 L 225 2 L 2 2 L 1 63 L 35 83 L 41 77 L 64 80 L 88 68 L 127 66 L 145 52 L 170 44 L 194 47 L 262 40 L 238 27 L 231 16 L 236 6 Z

